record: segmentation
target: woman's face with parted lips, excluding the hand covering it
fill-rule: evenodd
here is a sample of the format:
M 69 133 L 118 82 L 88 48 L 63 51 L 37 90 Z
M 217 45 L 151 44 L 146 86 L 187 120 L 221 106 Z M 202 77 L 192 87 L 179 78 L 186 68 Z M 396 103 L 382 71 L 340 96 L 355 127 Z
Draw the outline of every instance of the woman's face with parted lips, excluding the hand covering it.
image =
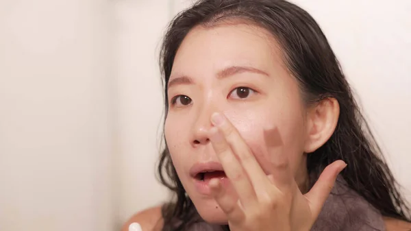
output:
M 266 30 L 245 24 L 192 29 L 175 56 L 168 96 L 166 142 L 184 189 L 206 221 L 227 222 L 206 184 L 225 176 L 208 140 L 213 112 L 232 122 L 266 174 L 271 159 L 264 130 L 277 130 L 282 139 L 277 151 L 288 156 L 297 183 L 305 181 L 305 107 L 279 45 Z

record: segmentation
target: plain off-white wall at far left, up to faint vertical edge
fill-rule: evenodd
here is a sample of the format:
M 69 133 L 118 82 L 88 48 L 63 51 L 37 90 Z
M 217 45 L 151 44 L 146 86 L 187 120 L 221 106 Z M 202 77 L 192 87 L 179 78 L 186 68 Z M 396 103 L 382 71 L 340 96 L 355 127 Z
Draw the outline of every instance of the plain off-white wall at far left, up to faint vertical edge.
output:
M 109 7 L 0 1 L 0 230 L 113 230 Z

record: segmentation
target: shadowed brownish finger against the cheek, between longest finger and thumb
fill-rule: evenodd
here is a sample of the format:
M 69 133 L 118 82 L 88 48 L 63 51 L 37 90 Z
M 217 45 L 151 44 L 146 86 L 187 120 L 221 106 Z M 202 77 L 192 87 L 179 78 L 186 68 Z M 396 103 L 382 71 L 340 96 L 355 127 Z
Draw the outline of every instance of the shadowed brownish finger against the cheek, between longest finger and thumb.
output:
M 271 162 L 271 182 L 279 190 L 284 191 L 288 186 L 295 183 L 292 175 L 288 155 L 284 150 L 284 143 L 277 127 L 264 130 L 267 152 Z

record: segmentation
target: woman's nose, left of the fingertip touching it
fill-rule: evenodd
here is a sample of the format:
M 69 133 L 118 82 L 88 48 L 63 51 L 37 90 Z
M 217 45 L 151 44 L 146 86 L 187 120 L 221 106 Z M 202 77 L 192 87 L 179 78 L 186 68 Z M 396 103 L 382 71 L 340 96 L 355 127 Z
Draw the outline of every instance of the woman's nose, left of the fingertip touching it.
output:
M 203 108 L 199 110 L 197 119 L 192 126 L 192 138 L 191 143 L 194 147 L 199 147 L 201 145 L 207 145 L 210 143 L 209 130 L 212 127 L 211 123 L 212 110 L 208 108 Z

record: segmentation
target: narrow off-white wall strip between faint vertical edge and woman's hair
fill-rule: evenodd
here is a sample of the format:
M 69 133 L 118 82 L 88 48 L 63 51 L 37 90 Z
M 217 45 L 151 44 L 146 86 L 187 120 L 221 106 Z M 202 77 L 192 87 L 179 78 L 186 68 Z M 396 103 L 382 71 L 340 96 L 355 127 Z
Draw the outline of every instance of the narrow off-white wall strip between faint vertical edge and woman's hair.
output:
M 169 21 L 166 0 L 118 1 L 115 12 L 118 165 L 116 221 L 166 198 L 155 180 L 162 130 L 158 49 Z

